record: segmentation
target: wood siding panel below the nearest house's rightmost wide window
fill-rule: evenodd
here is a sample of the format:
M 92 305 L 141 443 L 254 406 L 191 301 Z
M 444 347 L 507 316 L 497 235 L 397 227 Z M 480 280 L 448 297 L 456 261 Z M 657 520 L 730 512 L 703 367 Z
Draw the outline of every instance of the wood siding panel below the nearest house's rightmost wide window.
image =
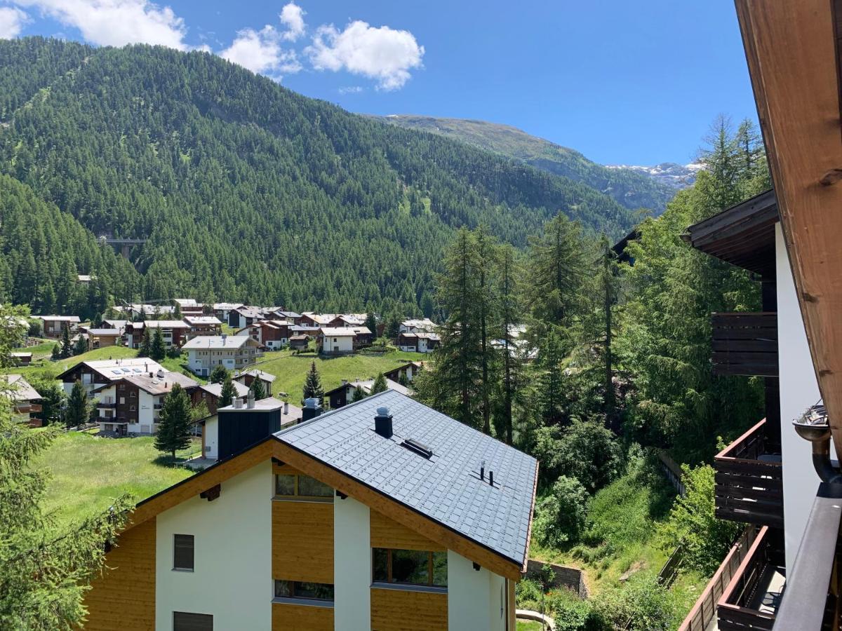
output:
M 371 588 L 371 631 L 441 631 L 447 594 Z

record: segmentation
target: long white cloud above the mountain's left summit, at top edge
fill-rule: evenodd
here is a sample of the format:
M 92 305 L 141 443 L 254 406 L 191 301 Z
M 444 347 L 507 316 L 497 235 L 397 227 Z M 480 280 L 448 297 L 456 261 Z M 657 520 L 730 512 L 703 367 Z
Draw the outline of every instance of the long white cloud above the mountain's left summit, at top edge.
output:
M 93 44 L 160 44 L 187 50 L 184 20 L 148 0 L 12 0 L 72 26 Z

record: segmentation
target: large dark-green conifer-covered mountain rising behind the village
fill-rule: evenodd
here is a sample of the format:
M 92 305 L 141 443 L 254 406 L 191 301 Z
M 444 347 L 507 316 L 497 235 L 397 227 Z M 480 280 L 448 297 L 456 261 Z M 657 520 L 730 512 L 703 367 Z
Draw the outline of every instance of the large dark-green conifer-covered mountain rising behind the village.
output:
M 417 312 L 459 226 L 523 247 L 559 212 L 610 236 L 633 220 L 584 183 L 146 45 L 0 41 L 0 172 L 94 236 L 147 239 L 131 283 L 110 276 L 116 263 L 72 256 L 118 300 Z M 38 221 L 19 235 L 33 252 Z M 49 248 L 35 256 L 61 268 Z M 18 276 L 4 289 L 21 300 Z

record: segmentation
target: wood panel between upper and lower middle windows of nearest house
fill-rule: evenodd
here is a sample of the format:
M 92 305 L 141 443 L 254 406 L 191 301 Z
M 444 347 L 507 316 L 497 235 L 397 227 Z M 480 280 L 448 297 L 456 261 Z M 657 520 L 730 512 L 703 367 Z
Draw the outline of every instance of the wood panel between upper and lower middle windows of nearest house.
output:
M 272 577 L 333 584 L 333 502 L 272 502 Z

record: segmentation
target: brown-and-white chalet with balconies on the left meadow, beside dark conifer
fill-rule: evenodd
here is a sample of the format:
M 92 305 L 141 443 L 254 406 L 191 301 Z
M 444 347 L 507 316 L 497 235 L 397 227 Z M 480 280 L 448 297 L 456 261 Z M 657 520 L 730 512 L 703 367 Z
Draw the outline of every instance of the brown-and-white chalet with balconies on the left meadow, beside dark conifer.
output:
M 117 436 L 156 433 L 164 397 L 174 384 L 188 394 L 199 386 L 184 374 L 160 370 L 128 374 L 92 390 L 99 431 Z

